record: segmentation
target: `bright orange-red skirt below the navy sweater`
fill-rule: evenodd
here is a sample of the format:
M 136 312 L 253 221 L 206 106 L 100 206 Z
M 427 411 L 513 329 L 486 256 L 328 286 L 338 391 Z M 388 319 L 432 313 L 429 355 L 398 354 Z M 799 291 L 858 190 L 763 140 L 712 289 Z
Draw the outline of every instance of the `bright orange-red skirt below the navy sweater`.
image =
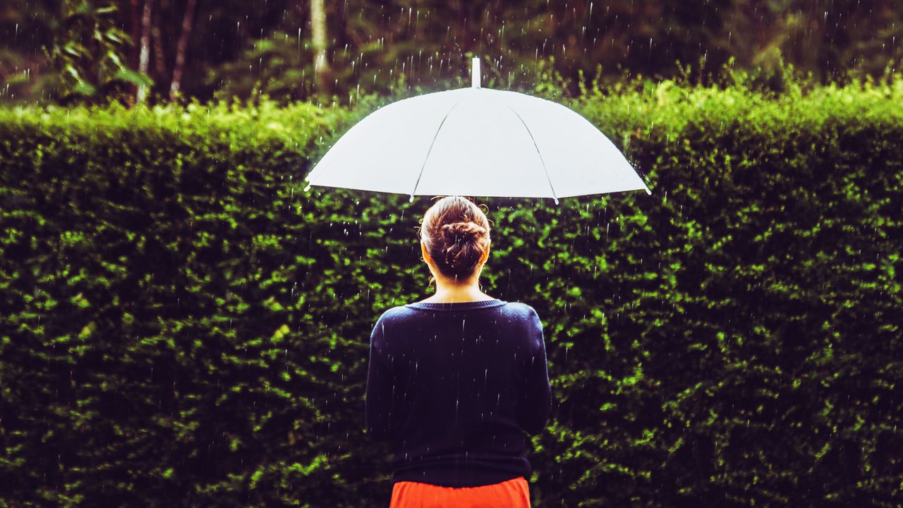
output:
M 479 487 L 443 487 L 419 482 L 396 482 L 389 508 L 530 508 L 526 478 Z

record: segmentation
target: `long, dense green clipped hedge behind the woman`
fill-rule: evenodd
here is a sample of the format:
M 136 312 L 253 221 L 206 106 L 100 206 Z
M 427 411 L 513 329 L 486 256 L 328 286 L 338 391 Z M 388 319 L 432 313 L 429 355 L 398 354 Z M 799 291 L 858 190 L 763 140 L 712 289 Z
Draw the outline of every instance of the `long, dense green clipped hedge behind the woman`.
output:
M 903 503 L 903 86 L 587 93 L 652 195 L 478 198 L 556 401 L 534 506 Z M 0 110 L 0 506 L 386 506 L 368 337 L 420 197 L 303 175 L 365 113 Z

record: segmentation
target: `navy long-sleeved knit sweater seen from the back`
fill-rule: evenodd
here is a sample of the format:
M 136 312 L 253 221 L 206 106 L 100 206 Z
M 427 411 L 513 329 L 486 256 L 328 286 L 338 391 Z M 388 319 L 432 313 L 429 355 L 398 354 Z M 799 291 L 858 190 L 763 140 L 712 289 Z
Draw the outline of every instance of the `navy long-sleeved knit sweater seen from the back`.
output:
M 533 307 L 494 299 L 395 306 L 370 334 L 368 435 L 390 441 L 393 484 L 529 479 L 525 431 L 545 428 L 552 390 Z

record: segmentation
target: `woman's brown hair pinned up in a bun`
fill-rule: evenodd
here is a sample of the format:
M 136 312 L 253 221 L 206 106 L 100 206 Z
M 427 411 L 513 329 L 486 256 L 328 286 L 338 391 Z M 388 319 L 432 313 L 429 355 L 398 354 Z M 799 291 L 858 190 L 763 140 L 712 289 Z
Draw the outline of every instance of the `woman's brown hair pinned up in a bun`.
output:
M 420 240 L 442 275 L 467 279 L 489 249 L 489 219 L 469 199 L 447 196 L 424 213 Z

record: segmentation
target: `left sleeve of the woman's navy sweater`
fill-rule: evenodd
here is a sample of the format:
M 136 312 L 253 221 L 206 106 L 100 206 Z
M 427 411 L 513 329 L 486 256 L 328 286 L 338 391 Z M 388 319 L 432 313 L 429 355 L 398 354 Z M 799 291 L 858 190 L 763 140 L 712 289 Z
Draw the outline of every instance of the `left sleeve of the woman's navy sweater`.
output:
M 365 394 L 367 434 L 374 441 L 391 438 L 395 376 L 386 348 L 386 314 L 379 316 L 370 333 L 370 359 Z

